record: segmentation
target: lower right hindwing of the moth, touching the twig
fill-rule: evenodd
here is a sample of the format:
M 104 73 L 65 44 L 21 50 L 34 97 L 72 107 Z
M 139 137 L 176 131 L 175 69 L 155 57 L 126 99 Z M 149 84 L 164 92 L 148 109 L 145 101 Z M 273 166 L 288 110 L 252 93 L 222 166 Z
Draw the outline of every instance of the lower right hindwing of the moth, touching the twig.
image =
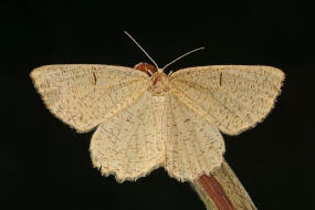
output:
M 171 93 L 165 117 L 165 168 L 170 177 L 193 181 L 221 165 L 224 141 L 218 128 Z

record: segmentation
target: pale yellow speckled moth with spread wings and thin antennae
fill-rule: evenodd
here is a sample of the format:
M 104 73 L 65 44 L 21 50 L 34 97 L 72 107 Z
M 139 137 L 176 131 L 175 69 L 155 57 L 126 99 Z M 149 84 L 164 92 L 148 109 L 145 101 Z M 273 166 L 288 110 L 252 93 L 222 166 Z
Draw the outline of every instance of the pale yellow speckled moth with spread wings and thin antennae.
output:
M 284 73 L 259 65 L 209 65 L 166 74 L 155 67 L 45 65 L 30 74 L 48 109 L 78 133 L 94 128 L 94 167 L 136 180 L 164 167 L 179 181 L 209 175 L 223 161 L 221 133 L 262 122 L 281 93 Z M 141 70 L 141 71 L 139 71 Z

